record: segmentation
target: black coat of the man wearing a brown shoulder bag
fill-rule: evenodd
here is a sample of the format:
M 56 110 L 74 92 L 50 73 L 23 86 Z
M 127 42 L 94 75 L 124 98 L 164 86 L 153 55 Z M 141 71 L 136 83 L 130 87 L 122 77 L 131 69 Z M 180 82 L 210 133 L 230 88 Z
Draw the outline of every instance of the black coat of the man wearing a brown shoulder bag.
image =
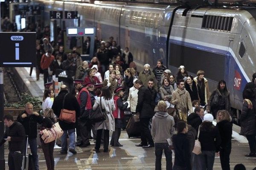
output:
M 52 104 L 52 110 L 55 113 L 55 115 L 58 117 L 61 114 L 62 108 L 70 111 L 76 111 L 76 123 L 66 123 L 61 120 L 59 121 L 59 124 L 62 130 L 75 129 L 77 125 L 77 119 L 80 116 L 80 106 L 79 106 L 79 103 L 77 102 L 76 97 L 73 94 L 67 94 L 67 93 L 68 93 L 67 90 L 60 91 L 58 96 L 55 97 Z M 67 94 L 67 96 L 65 98 L 64 107 L 62 107 L 65 94 Z

